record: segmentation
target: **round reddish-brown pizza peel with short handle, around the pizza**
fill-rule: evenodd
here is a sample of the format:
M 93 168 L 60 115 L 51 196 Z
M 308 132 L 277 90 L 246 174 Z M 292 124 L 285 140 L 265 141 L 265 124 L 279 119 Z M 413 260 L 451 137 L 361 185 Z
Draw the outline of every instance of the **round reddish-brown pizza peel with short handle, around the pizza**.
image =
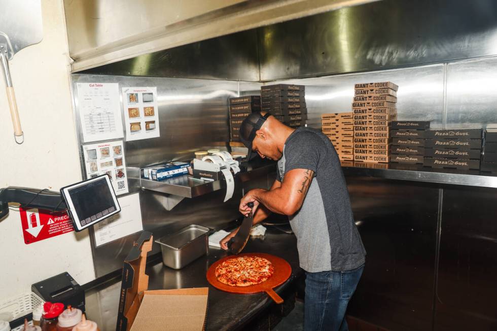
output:
M 216 274 L 214 273 L 216 267 L 226 260 L 238 258 L 239 256 L 259 256 L 260 258 L 269 260 L 274 267 L 274 274 L 265 282 L 256 285 L 230 286 L 223 284 L 216 278 Z M 207 281 L 212 286 L 222 291 L 230 293 L 253 294 L 259 292 L 266 292 L 271 297 L 271 299 L 274 300 L 274 302 L 276 302 L 277 304 L 281 304 L 283 303 L 283 299 L 281 299 L 281 297 L 276 294 L 273 288 L 286 282 L 291 274 L 292 274 L 292 267 L 290 266 L 290 264 L 287 261 L 278 258 L 278 256 L 265 254 L 265 253 L 243 253 L 238 255 L 226 256 L 226 258 L 223 258 L 212 264 L 207 270 Z

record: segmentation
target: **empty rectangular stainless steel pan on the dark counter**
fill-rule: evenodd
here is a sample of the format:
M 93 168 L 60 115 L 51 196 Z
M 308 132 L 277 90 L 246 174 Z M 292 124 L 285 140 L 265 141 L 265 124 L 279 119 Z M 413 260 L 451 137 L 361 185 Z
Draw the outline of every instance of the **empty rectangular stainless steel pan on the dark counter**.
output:
M 162 251 L 162 262 L 169 268 L 181 269 L 206 255 L 209 247 L 209 228 L 190 225 L 155 242 Z

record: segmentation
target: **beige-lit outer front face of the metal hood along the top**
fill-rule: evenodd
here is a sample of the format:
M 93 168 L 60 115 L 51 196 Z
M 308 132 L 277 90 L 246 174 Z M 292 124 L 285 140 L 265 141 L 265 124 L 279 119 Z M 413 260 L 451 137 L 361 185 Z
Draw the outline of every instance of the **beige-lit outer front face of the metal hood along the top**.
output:
M 73 71 L 377 0 L 64 0 Z

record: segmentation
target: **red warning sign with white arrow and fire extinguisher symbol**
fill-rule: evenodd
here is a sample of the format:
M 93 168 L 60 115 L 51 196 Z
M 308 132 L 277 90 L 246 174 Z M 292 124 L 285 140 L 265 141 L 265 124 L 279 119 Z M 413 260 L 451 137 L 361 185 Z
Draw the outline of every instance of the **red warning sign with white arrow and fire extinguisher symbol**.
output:
M 19 208 L 25 244 L 52 238 L 74 231 L 73 222 L 66 212 L 50 213 L 45 209 Z

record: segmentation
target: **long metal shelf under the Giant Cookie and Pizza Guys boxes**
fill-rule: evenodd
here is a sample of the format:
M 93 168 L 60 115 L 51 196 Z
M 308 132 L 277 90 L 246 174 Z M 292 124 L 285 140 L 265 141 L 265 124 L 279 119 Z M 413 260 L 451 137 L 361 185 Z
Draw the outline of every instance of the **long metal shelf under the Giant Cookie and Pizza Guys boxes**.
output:
M 479 170 L 436 169 L 422 165 L 342 162 L 346 176 L 422 181 L 449 185 L 497 188 L 497 176 Z

